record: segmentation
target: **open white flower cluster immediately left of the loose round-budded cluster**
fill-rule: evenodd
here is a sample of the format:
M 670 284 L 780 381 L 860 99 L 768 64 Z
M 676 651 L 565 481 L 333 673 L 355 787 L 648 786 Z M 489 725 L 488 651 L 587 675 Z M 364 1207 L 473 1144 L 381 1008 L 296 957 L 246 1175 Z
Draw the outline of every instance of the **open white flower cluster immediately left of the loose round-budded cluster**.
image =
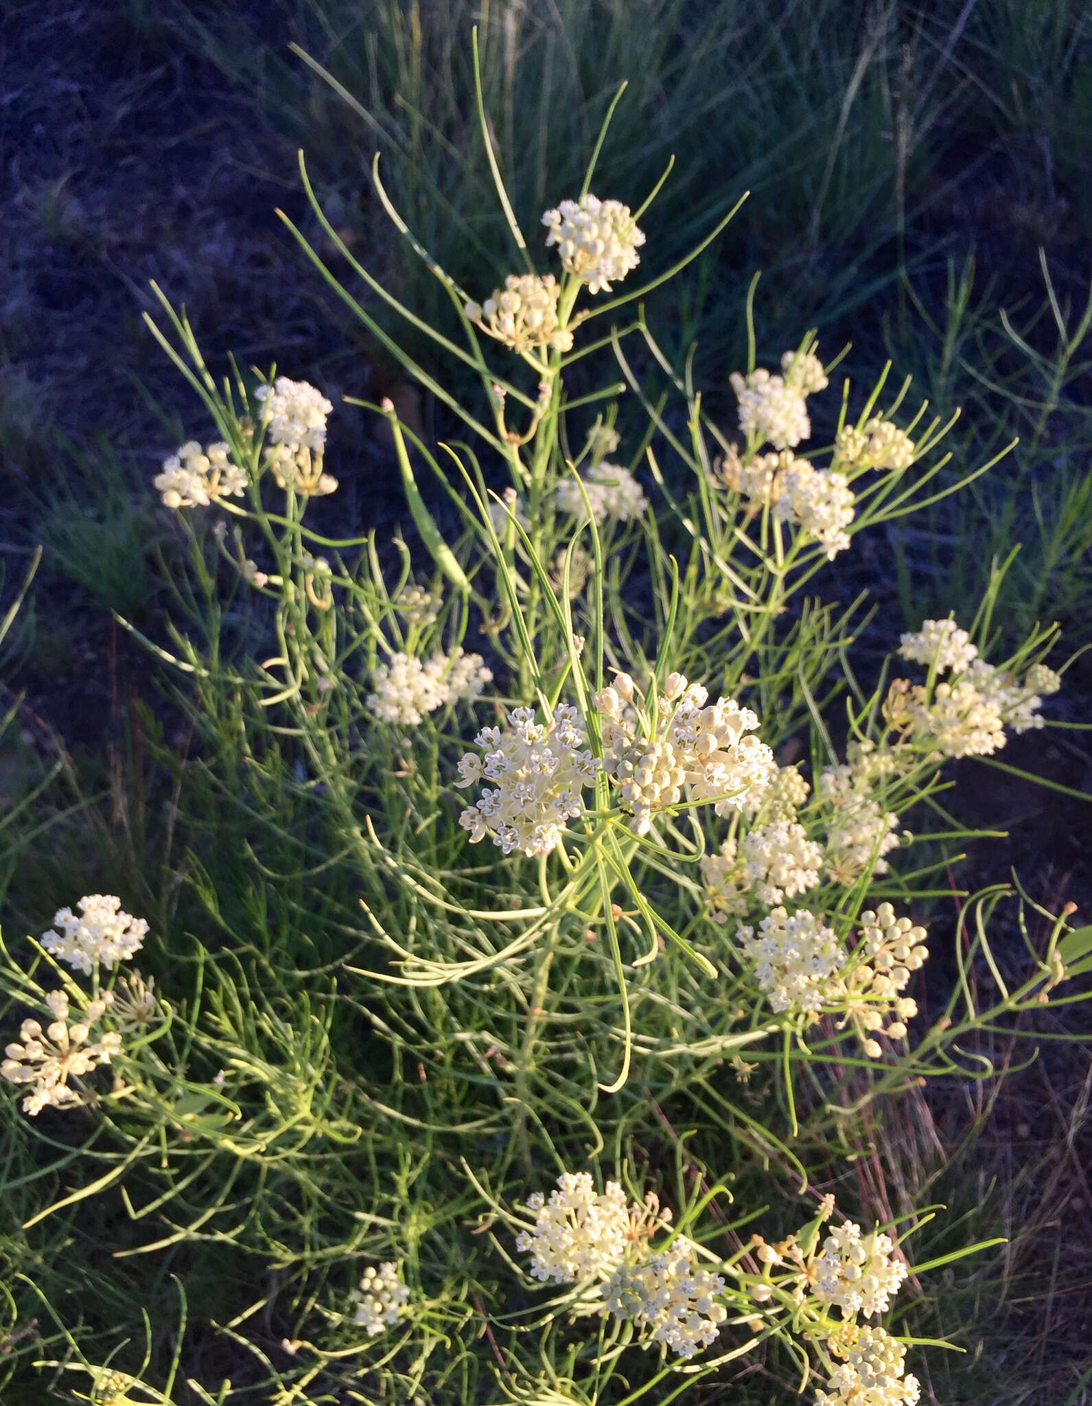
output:
M 818 1019 L 824 1001 L 838 995 L 838 973 L 846 953 L 822 918 L 807 908 L 790 914 L 773 908 L 760 922 L 739 928 L 743 956 L 774 1011 L 802 1012 Z

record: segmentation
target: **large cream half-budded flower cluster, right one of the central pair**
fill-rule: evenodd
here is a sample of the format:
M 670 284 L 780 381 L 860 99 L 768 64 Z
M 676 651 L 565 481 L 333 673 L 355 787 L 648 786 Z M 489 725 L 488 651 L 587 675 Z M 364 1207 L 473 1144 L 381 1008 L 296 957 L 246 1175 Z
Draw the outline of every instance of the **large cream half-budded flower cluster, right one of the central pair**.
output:
M 652 702 L 655 724 L 634 704 L 628 673 L 594 699 L 604 720 L 603 765 L 634 834 L 648 832 L 655 810 L 677 806 L 683 787 L 690 800 L 715 801 L 718 815 L 742 808 L 748 789 L 774 765 L 770 748 L 748 735 L 759 725 L 756 714 L 735 699 L 708 704 L 708 689 L 682 673 L 669 675 Z

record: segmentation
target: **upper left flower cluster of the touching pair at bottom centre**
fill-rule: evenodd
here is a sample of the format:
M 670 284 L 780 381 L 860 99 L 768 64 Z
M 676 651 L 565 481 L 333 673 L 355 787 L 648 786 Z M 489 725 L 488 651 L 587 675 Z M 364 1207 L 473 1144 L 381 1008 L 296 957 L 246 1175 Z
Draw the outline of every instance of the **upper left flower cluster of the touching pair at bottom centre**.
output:
M 521 1230 L 516 1249 L 531 1256 L 531 1275 L 557 1284 L 604 1278 L 625 1256 L 630 1208 L 617 1181 L 597 1192 L 586 1171 L 564 1171 L 550 1201 L 527 1198 L 534 1230 Z

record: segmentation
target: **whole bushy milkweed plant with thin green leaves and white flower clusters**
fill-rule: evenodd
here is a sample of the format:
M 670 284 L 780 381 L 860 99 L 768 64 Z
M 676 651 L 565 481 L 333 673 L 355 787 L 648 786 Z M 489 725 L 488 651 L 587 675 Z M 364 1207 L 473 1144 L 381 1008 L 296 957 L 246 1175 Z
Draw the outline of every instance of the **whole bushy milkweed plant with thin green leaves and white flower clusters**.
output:
M 60 934 L 4 952 L 22 1024 L 1 1073 L 30 1085 L 35 1130 L 58 1121 L 51 1146 L 70 1140 L 59 1119 L 83 1119 L 94 1175 L 66 1171 L 65 1205 L 119 1187 L 132 1216 L 141 1199 L 156 1233 L 167 1220 L 149 1258 L 219 1253 L 215 1227 L 295 1285 L 295 1336 L 275 1361 L 257 1354 L 259 1385 L 191 1381 L 194 1399 L 662 1402 L 752 1357 L 821 1406 L 914 1403 L 892 1306 L 928 1216 L 863 1205 L 859 1223 L 812 1192 L 805 1159 L 852 1201 L 839 1159 L 854 1119 L 935 1076 L 981 1077 L 985 1056 L 968 1070 L 958 1042 L 1078 998 L 1057 994 L 1079 946 L 1067 912 L 1001 979 L 999 890 L 971 904 L 928 1026 L 914 994 L 919 920 L 966 834 L 936 801 L 944 768 L 1044 725 L 1055 631 L 989 661 L 987 598 L 968 628 L 904 633 L 869 690 L 847 662 L 856 607 L 805 595 L 859 533 L 936 496 L 946 426 L 904 412 L 906 385 L 884 406 L 885 375 L 864 398 L 833 387 L 814 333 L 776 371 L 752 337 L 729 377 L 736 423 L 717 423 L 641 311 L 679 270 L 632 287 L 655 266 L 651 197 L 632 212 L 592 179 L 542 215 L 535 246 L 498 174 L 519 269 L 485 277 L 481 301 L 415 242 L 461 340 L 342 245 L 437 361 L 476 371 L 472 405 L 294 231 L 448 416 L 451 437 L 429 444 L 389 401 L 370 406 L 415 553 L 308 524 L 311 499 L 339 489 L 323 464 L 334 405 L 275 370 L 219 387 L 164 301 L 181 350 L 156 335 L 215 439 L 155 478 L 194 581 L 190 626 L 155 648 L 191 681 L 208 769 L 287 763 L 292 804 L 337 837 L 316 873 L 342 875 L 360 917 L 340 956 L 273 988 L 222 936 L 202 945 L 197 998 L 170 988 L 167 934 L 166 979 L 126 974 L 149 925 L 84 897 Z M 375 181 L 386 201 L 378 167 Z M 611 357 L 621 381 L 587 391 Z M 825 394 L 836 430 L 811 447 Z M 450 491 L 455 531 L 422 472 Z M 246 648 L 229 648 L 222 595 L 250 600 Z M 977 962 L 996 976 L 989 1007 Z M 136 1378 L 65 1333 L 96 1399 L 128 1399 Z

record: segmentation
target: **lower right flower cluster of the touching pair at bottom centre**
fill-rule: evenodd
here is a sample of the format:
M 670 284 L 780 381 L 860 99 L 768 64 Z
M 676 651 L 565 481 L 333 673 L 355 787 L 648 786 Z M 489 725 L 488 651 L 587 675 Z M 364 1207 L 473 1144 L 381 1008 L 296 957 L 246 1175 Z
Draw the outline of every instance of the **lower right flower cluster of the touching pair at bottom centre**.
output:
M 724 1278 L 691 1260 L 693 1246 L 682 1236 L 662 1254 L 641 1264 L 623 1264 L 606 1286 L 607 1312 L 632 1319 L 652 1343 L 663 1343 L 680 1357 L 693 1357 L 720 1333 L 728 1317 L 714 1295 Z

